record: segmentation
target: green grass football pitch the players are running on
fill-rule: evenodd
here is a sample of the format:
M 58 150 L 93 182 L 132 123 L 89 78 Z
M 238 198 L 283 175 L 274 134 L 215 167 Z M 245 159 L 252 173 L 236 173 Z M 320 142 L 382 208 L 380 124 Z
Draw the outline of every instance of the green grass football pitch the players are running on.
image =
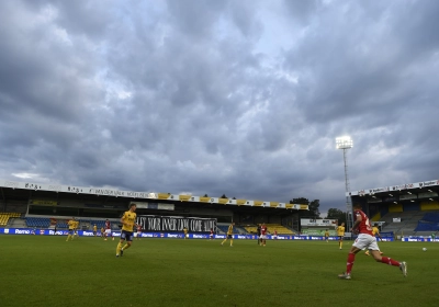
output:
M 380 242 L 398 268 L 357 254 L 351 241 L 142 239 L 122 258 L 117 240 L 0 236 L 0 306 L 438 306 L 439 245 Z M 421 248 L 428 248 L 423 252 Z

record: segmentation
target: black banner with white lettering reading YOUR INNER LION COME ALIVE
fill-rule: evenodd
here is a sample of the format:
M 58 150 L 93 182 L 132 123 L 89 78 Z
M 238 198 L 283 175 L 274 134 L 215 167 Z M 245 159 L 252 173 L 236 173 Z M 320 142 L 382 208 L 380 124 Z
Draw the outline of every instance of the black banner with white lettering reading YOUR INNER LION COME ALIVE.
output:
M 211 228 L 216 232 L 215 218 L 181 217 L 181 216 L 159 216 L 145 215 L 137 216 L 136 223 L 142 226 L 143 231 L 183 231 L 189 232 L 211 232 Z

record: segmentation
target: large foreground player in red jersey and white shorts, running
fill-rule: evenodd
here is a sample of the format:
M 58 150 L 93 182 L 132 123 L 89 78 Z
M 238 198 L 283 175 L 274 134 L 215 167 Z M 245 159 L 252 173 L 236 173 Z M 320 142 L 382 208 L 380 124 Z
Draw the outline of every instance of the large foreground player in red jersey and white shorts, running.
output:
M 361 211 L 361 204 L 353 205 L 353 214 L 356 215 L 357 219 L 353 223 L 351 231 L 359 235 L 349 251 L 346 273 L 338 275 L 338 277 L 342 280 L 351 278 L 350 272 L 352 271 L 353 261 L 356 260 L 356 254 L 363 248 L 367 248 L 371 251 L 371 254 L 376 262 L 398 266 L 399 270 L 403 272 L 404 277 L 406 277 L 407 263 L 405 263 L 404 261 L 398 262 L 389 257 L 382 257 L 380 254 L 380 249 L 378 247 L 376 239 L 372 235 L 372 227 L 370 225 L 369 217 Z

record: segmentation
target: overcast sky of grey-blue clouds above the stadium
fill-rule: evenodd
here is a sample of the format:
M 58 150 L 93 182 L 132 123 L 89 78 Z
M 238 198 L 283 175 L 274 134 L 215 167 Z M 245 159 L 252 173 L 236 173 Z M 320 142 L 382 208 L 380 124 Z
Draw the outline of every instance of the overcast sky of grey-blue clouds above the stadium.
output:
M 0 178 L 344 209 L 439 179 L 439 1 L 0 1 Z

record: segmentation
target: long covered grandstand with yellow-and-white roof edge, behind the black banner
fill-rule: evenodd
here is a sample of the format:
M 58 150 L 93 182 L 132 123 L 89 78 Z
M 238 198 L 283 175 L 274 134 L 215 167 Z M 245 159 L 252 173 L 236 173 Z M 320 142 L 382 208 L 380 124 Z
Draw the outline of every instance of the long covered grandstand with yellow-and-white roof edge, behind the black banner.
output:
M 7 180 L 0 180 L 0 227 L 11 228 L 67 229 L 67 221 L 75 217 L 81 230 L 93 225 L 100 229 L 105 219 L 117 230 L 122 214 L 136 203 L 145 227 L 155 221 L 149 217 L 181 217 L 214 219 L 216 234 L 226 232 L 235 221 L 236 234 L 255 234 L 257 225 L 266 223 L 271 234 L 293 235 L 300 229 L 299 212 L 308 208 L 303 204 Z

